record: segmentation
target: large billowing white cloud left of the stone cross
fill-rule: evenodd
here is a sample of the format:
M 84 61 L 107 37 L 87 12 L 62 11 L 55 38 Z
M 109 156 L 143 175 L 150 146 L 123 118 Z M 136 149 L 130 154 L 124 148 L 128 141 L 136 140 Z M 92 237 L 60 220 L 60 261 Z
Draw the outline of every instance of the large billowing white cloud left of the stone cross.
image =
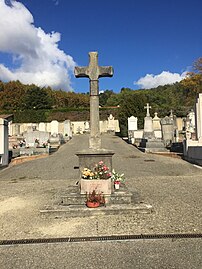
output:
M 38 86 L 72 90 L 75 62 L 58 48 L 60 33 L 45 33 L 34 26 L 32 14 L 17 1 L 0 0 L 0 52 L 10 53 L 17 68 L 0 63 L 0 80 L 20 80 Z

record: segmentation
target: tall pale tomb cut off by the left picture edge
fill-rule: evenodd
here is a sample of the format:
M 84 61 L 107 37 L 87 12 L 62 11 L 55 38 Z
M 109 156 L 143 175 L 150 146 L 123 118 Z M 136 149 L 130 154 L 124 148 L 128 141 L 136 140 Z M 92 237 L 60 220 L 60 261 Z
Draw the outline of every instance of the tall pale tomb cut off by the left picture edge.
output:
M 8 162 L 8 121 L 0 118 L 0 166 L 7 166 Z

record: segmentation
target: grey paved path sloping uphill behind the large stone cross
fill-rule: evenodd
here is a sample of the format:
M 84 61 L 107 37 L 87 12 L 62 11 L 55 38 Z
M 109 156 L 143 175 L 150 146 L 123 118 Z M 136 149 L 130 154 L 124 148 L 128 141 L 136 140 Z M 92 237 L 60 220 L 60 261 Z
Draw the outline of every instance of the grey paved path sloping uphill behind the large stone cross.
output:
M 181 159 L 145 154 L 121 138 L 102 136 L 102 147 L 113 150 L 113 167 L 125 173 L 126 177 L 191 176 L 201 175 L 202 170 Z M 88 148 L 88 136 L 75 136 L 48 158 L 33 160 L 0 171 L 0 179 L 78 179 L 78 157 L 76 152 Z

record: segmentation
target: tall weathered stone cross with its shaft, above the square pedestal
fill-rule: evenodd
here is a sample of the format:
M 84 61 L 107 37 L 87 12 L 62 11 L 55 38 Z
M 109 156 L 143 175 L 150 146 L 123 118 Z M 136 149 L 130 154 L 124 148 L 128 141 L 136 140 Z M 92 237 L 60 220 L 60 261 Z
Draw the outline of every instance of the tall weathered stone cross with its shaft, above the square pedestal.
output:
M 112 77 L 111 66 L 98 66 L 98 53 L 89 52 L 89 65 L 76 66 L 74 69 L 76 78 L 89 78 L 90 82 L 90 149 L 101 149 L 100 120 L 99 120 L 99 78 Z

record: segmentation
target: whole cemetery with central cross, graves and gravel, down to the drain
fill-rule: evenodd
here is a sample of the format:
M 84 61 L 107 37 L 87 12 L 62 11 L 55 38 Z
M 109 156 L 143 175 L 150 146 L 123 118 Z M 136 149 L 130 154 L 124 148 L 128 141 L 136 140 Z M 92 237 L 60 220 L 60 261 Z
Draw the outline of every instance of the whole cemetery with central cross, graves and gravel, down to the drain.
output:
M 99 119 L 98 80 L 112 75 L 112 67 L 98 65 L 97 52 L 89 53 L 89 66 L 75 68 L 76 77 L 89 78 L 90 122 L 0 118 L 0 164 L 8 167 L 0 170 L 2 244 L 142 233 L 201 237 L 202 95 L 187 118 L 172 110 L 152 117 L 146 103 L 144 128 L 131 115 L 125 140 L 112 114 Z M 172 147 L 180 158 L 169 155 Z M 10 150 L 19 152 L 16 165 L 9 164 Z

